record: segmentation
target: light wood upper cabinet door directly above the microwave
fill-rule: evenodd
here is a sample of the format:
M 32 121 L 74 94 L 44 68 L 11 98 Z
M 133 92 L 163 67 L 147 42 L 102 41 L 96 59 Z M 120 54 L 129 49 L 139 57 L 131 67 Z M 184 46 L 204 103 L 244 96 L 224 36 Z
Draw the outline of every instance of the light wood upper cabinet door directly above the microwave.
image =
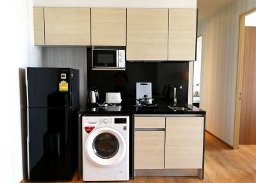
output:
M 126 45 L 126 9 L 92 8 L 92 45 Z

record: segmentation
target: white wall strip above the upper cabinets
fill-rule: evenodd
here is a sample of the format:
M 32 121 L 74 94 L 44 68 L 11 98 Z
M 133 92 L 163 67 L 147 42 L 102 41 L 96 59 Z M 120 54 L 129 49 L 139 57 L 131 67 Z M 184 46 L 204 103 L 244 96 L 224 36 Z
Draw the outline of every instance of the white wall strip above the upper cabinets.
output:
M 113 8 L 196 8 L 197 0 L 35 0 L 35 6 Z

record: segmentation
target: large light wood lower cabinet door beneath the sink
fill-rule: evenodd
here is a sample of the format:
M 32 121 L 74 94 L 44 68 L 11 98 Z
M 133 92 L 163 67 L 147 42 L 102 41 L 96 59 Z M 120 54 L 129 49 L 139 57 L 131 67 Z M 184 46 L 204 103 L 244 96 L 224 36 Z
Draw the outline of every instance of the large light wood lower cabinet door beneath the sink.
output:
M 203 148 L 203 117 L 166 118 L 166 169 L 201 169 Z

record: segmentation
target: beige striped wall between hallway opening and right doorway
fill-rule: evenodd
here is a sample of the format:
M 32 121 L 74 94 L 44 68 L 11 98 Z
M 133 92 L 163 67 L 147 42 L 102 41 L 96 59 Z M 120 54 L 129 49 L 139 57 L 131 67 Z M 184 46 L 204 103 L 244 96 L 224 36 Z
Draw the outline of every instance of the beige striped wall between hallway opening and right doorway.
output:
M 199 24 L 200 107 L 207 111 L 206 129 L 229 145 L 234 140 L 239 15 L 255 7 L 256 0 L 235 0 Z

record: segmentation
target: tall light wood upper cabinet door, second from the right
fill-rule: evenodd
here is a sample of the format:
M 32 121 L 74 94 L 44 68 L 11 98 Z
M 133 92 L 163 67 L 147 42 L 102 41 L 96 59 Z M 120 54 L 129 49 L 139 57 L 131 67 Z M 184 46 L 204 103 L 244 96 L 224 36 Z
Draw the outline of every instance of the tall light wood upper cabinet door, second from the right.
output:
M 168 60 L 168 10 L 127 8 L 127 60 Z

